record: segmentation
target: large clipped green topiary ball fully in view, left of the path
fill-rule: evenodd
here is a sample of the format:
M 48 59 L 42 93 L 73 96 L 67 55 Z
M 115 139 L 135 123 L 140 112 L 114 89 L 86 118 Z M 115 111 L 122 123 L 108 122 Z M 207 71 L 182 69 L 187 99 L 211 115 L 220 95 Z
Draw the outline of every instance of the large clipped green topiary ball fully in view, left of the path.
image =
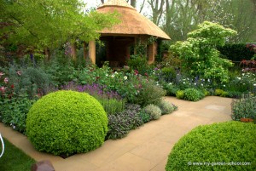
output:
M 95 150 L 108 132 L 108 117 L 92 96 L 57 91 L 38 100 L 27 114 L 26 134 L 38 151 L 70 156 Z

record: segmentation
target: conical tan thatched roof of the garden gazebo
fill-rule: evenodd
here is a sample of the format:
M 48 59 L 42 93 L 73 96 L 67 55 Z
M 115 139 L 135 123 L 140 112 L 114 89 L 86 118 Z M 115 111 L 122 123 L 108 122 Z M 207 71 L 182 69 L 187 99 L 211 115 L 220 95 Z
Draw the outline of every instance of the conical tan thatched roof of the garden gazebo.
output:
M 121 23 L 111 29 L 104 29 L 101 31 L 102 34 L 149 35 L 166 40 L 171 39 L 160 27 L 148 20 L 143 14 L 138 13 L 137 9 L 134 9 L 125 0 L 108 0 L 108 3 L 102 4 L 97 11 L 100 13 L 117 11 L 121 14 Z

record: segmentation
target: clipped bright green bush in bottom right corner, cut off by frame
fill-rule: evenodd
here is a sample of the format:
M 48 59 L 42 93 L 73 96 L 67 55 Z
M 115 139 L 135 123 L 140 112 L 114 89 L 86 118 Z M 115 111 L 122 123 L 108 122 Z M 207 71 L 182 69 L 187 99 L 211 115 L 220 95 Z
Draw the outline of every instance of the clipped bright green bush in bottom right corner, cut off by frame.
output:
M 214 123 L 194 128 L 173 146 L 166 171 L 253 171 L 256 168 L 255 129 L 256 124 L 239 122 Z M 217 162 L 250 162 L 250 165 L 222 165 Z

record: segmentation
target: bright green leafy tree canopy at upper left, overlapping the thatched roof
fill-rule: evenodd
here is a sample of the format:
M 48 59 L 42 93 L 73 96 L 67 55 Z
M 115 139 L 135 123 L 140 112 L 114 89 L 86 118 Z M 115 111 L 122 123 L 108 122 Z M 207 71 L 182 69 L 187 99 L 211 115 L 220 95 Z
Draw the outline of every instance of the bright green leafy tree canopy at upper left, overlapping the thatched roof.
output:
M 116 14 L 83 12 L 79 0 L 0 0 L 1 44 L 23 45 L 29 51 L 63 43 L 97 39 L 104 27 L 117 23 Z

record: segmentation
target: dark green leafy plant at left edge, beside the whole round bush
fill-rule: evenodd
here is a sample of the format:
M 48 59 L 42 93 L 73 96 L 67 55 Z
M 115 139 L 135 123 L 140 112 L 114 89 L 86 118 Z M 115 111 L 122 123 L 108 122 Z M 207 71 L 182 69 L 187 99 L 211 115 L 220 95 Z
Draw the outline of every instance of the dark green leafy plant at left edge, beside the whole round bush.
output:
M 26 132 L 26 115 L 34 102 L 35 100 L 29 100 L 26 96 L 2 100 L 0 98 L 1 122 L 24 134 Z

